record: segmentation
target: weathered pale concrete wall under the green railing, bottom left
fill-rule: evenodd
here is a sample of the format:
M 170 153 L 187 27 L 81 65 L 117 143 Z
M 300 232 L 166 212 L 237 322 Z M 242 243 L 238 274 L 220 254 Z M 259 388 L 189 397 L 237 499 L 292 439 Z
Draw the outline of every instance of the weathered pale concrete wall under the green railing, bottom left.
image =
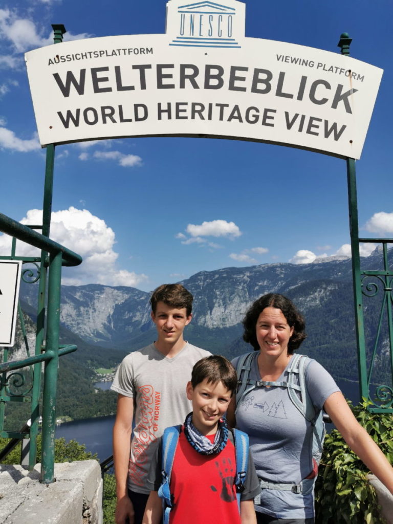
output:
M 54 465 L 56 482 L 39 482 L 40 464 L 0 465 L 0 524 L 102 524 L 102 479 L 97 461 Z

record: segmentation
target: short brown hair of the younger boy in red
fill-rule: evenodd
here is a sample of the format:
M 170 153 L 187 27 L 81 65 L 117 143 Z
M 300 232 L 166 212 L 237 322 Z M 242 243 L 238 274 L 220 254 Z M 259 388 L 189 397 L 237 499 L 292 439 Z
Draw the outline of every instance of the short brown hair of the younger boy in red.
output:
M 191 373 L 192 387 L 198 386 L 203 380 L 212 384 L 221 380 L 226 389 L 231 391 L 231 394 L 237 388 L 236 369 L 227 358 L 221 355 L 204 357 L 194 365 Z

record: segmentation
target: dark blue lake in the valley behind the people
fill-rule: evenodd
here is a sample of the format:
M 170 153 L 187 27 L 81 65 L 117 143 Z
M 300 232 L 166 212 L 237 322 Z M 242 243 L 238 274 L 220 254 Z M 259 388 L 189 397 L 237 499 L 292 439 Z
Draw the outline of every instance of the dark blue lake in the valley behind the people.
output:
M 102 386 L 100 386 L 100 384 Z M 352 400 L 354 405 L 359 401 L 359 386 L 357 382 L 349 380 L 337 380 L 337 385 L 343 395 Z M 94 387 L 109 389 L 110 382 L 97 382 Z M 97 453 L 99 460 L 103 461 L 112 455 L 112 428 L 115 416 L 96 417 L 92 419 L 74 420 L 65 422 L 56 427 L 56 438 L 61 436 L 68 442 L 71 439 L 77 440 L 80 444 L 85 444 L 86 450 Z M 329 427 L 330 426 L 330 427 Z M 331 429 L 329 424 L 328 431 Z

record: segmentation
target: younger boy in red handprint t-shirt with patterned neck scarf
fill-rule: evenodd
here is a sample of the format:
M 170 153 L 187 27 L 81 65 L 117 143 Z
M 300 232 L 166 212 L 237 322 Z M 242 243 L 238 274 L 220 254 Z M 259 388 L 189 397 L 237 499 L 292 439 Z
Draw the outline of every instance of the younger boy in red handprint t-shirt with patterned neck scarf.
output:
M 170 475 L 170 524 L 256 524 L 254 497 L 260 487 L 254 463 L 247 449 L 239 513 L 233 434 L 223 418 L 236 387 L 236 371 L 225 357 L 211 355 L 193 367 L 186 389 L 192 413 L 181 428 Z M 162 519 L 157 493 L 162 482 L 161 455 L 159 445 L 148 476 L 151 493 L 143 524 L 159 524 Z

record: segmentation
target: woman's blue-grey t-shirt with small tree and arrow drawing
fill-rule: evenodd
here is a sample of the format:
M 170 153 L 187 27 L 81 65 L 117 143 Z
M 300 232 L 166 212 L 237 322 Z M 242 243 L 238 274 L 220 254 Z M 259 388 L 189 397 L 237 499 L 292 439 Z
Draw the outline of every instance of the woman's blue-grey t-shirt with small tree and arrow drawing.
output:
M 232 363 L 236 367 L 238 359 Z M 289 365 L 289 364 L 288 364 Z M 277 381 L 288 378 L 287 368 Z M 257 359 L 253 359 L 250 380 L 260 380 Z M 316 409 L 340 391 L 332 376 L 316 361 L 305 370 L 305 384 Z M 284 387 L 257 387 L 240 402 L 236 427 L 249 435 L 250 449 L 259 478 L 268 482 L 299 484 L 312 469 L 312 428 L 293 405 Z M 276 518 L 311 518 L 314 516 L 314 494 L 296 494 L 276 489 L 263 489 L 256 510 Z

